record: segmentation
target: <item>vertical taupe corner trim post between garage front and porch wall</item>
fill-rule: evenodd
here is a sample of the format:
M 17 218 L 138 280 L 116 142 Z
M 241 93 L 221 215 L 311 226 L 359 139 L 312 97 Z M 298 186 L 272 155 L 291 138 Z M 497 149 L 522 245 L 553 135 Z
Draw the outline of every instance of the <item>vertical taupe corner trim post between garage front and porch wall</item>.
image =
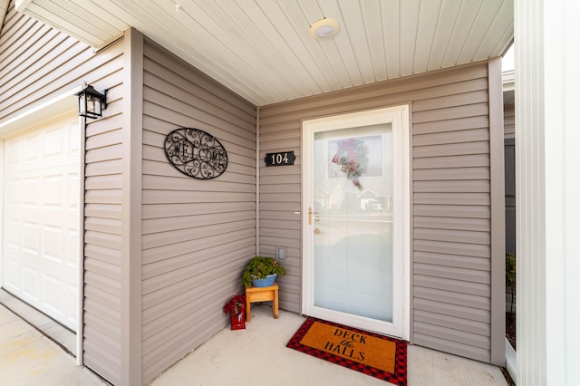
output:
M 123 47 L 121 384 L 140 385 L 143 35 L 131 28 Z

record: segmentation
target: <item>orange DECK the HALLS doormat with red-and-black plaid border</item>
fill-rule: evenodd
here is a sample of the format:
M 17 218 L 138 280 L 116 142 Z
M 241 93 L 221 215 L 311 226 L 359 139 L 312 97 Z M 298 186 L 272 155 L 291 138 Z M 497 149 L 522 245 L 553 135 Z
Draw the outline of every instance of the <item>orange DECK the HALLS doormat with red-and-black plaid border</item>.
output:
M 396 385 L 407 384 L 407 343 L 309 317 L 286 347 Z

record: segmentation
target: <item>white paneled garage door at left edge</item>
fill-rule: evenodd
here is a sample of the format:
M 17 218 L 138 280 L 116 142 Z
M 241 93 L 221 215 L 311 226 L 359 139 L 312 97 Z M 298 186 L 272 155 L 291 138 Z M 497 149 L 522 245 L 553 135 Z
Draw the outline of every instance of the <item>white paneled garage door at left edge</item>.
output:
M 3 286 L 76 330 L 79 122 L 5 140 Z

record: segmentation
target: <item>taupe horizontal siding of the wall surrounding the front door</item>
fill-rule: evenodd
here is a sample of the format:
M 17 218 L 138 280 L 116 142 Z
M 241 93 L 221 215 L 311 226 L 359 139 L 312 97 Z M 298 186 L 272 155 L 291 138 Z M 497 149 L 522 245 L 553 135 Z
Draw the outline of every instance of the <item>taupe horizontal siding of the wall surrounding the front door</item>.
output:
M 354 87 L 260 110 L 260 246 L 288 246 L 280 306 L 301 307 L 302 120 L 411 104 L 411 343 L 490 361 L 491 229 L 488 63 Z

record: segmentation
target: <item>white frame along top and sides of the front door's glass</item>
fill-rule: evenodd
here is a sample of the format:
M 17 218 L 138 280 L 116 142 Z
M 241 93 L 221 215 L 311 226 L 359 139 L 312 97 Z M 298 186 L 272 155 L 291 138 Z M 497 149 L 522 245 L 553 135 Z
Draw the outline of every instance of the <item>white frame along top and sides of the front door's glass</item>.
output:
M 311 167 L 314 164 L 313 151 L 309 149 L 313 146 L 313 140 L 310 130 L 315 127 L 324 125 L 325 129 L 343 129 L 345 127 L 356 127 L 376 123 L 393 123 L 393 143 L 395 135 L 400 135 L 401 147 L 393 146 L 393 159 L 401 159 L 401 164 L 393 164 L 394 168 L 401 168 L 402 182 L 398 192 L 402 198 L 403 204 L 396 208 L 400 211 L 402 219 L 401 234 L 393 235 L 400 240 L 400 250 L 397 253 L 402 255 L 399 259 L 400 266 L 393 267 L 393 273 L 402 272 L 401 276 L 393 275 L 393 286 L 401 288 L 401 295 L 393 299 L 393 324 L 398 323 L 396 328 L 401 333 L 401 338 L 409 340 L 410 337 L 410 237 L 411 237 L 411 163 L 410 163 L 410 130 L 409 130 L 409 111 L 408 105 L 375 109 L 372 111 L 357 111 L 346 114 L 337 114 L 330 117 L 324 117 L 314 120 L 303 121 L 302 135 L 302 221 L 304 224 L 302 235 L 302 248 L 304 256 L 312 256 L 314 253 L 314 231 L 312 225 L 308 224 L 308 208 L 313 206 L 308 192 L 312 192 L 314 187 L 314 178 Z M 398 126 L 400 130 L 394 130 Z M 395 132 L 398 131 L 398 132 Z M 304 257 L 302 265 L 302 313 L 306 314 L 311 308 L 314 299 L 314 269 L 311 266 L 312 259 Z M 397 276 L 397 277 L 395 277 Z M 348 320 L 349 316 L 343 314 Z

